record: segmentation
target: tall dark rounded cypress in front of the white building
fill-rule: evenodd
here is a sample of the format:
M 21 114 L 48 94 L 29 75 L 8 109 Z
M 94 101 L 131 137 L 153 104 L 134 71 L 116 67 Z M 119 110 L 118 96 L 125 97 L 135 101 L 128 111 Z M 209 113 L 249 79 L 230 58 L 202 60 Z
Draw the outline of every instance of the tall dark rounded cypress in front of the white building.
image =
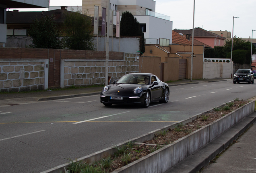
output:
M 121 36 L 141 36 L 140 39 L 140 52 L 145 52 L 145 38 L 144 33 L 140 28 L 140 23 L 132 15 L 132 13 L 126 11 L 123 12 L 120 21 L 120 35 Z

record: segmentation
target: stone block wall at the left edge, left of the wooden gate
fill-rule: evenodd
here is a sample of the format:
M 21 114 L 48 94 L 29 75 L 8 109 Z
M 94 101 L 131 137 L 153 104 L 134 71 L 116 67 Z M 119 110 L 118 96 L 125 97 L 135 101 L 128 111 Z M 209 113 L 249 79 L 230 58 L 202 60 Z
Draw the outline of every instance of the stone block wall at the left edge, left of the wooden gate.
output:
M 24 92 L 47 89 L 48 60 L 0 59 L 0 92 Z M 46 83 L 45 83 L 46 82 Z

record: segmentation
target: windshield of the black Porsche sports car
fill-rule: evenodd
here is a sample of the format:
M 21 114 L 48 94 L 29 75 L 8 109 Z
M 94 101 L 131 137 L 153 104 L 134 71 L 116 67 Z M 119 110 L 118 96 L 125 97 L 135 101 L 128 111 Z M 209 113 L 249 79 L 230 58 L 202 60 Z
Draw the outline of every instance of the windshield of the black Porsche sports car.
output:
M 118 84 L 149 84 L 149 76 L 145 75 L 124 75 L 116 82 Z

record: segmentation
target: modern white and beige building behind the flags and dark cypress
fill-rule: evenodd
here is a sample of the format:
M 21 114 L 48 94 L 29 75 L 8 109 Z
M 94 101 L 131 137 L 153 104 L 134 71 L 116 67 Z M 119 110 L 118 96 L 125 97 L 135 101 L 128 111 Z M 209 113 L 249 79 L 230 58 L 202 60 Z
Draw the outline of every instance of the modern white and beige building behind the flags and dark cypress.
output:
M 155 12 L 154 0 L 110 0 L 110 9 L 114 10 L 114 24 L 116 24 L 116 11 L 129 11 L 140 22 L 145 38 L 172 40 L 172 21 L 170 16 Z M 99 16 L 102 16 L 102 8 L 107 8 L 107 0 L 83 0 L 82 10 L 89 10 L 94 16 L 94 6 L 99 6 Z

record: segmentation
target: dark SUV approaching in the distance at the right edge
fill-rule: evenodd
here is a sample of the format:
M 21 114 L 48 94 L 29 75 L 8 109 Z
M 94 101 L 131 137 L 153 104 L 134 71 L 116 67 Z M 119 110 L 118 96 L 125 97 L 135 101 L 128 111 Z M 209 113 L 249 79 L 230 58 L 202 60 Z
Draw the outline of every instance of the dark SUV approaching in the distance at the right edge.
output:
M 251 69 L 238 69 L 233 76 L 233 83 L 248 82 L 254 83 L 254 75 Z

